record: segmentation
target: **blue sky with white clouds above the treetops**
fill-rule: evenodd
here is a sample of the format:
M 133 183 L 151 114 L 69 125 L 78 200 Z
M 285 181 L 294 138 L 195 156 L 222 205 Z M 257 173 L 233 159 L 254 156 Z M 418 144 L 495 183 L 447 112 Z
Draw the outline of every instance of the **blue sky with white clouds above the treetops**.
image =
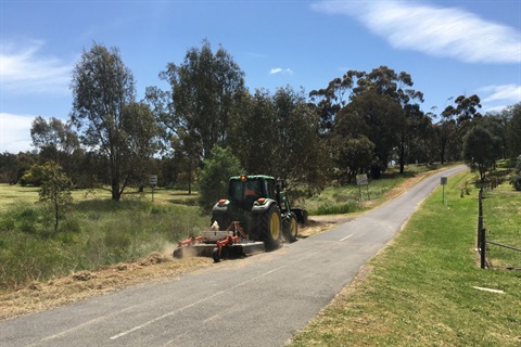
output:
M 93 41 L 120 50 L 141 99 L 203 39 L 252 91 L 307 93 L 385 65 L 411 75 L 425 112 L 461 94 L 482 112 L 521 102 L 521 0 L 0 0 L 0 152 L 33 150 L 36 116 L 68 119 L 71 73 Z

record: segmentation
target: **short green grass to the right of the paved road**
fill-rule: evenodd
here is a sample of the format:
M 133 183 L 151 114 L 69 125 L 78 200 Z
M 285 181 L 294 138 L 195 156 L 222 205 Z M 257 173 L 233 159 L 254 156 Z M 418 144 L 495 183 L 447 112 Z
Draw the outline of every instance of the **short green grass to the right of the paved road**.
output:
M 429 197 L 363 269 L 364 281 L 344 288 L 290 346 L 520 346 L 521 271 L 479 268 L 474 179 L 449 179 L 448 208 L 441 189 Z M 459 197 L 465 187 L 469 195 Z M 504 183 L 484 207 L 495 239 L 518 246 L 520 197 Z M 519 265 L 519 257 L 501 261 Z

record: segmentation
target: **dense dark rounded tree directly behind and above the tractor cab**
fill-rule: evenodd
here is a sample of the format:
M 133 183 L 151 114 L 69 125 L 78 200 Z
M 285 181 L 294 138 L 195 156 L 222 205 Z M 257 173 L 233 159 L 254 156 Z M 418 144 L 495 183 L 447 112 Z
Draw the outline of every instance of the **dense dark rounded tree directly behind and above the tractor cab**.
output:
M 250 174 L 283 178 L 308 192 L 323 187 L 327 155 L 319 137 L 318 115 L 303 91 L 278 88 L 246 95 L 233 125 L 230 145 Z

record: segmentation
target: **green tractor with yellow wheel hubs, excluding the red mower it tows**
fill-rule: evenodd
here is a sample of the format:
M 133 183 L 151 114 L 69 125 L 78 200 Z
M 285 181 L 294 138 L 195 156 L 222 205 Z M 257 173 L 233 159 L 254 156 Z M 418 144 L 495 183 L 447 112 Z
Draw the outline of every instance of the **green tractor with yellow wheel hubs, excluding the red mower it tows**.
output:
M 297 222 L 305 223 L 307 213 L 291 208 L 287 184 L 265 175 L 231 177 L 228 197 L 219 200 L 212 210 L 212 224 L 229 230 L 239 222 L 251 241 L 264 242 L 266 250 L 279 247 L 282 236 L 296 241 Z

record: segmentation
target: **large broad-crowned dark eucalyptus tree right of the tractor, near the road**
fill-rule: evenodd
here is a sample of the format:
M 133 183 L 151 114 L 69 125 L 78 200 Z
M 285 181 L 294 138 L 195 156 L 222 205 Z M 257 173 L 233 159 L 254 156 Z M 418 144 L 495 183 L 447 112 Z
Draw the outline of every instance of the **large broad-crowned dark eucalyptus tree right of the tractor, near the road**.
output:
M 332 129 L 333 136 L 345 136 L 347 131 L 355 139 L 366 136 L 374 143 L 378 158 L 376 164 L 379 164 L 374 166 L 373 175 L 379 176 L 377 168 L 382 170 L 386 167 L 394 147 L 398 149 L 403 172 L 409 143 L 419 136 L 416 132 L 417 125 L 428 117 L 418 105 L 423 102 L 423 93 L 411 89 L 412 85 L 409 74 L 398 74 L 386 66 L 380 66 L 369 73 L 348 70 L 342 78 L 333 79 L 328 88 L 312 91 L 310 98 L 321 112 L 322 124 L 331 123 L 328 129 Z M 380 104 L 385 111 L 379 113 L 370 106 L 371 102 Z M 385 106 L 382 102 L 389 105 Z M 368 110 L 371 111 L 367 113 Z M 354 131 L 346 129 L 345 117 L 352 118 L 354 113 L 369 127 L 365 132 L 353 133 Z M 389 127 L 382 127 L 382 124 Z M 342 129 L 335 130 L 339 126 Z

